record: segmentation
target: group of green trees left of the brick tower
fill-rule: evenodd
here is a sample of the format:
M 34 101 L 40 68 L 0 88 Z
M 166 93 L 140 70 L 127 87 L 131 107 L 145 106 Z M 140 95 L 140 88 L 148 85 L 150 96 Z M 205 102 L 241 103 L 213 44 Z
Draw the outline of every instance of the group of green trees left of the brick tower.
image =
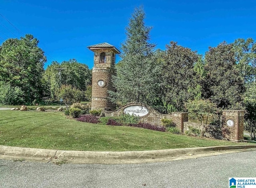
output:
M 88 66 L 70 59 L 53 61 L 44 70 L 46 56 L 38 43 L 26 34 L 20 39 L 9 38 L 0 46 L 0 104 L 39 104 L 44 96 L 60 100 L 62 85 L 79 91 L 80 100 L 90 100 L 92 72 Z

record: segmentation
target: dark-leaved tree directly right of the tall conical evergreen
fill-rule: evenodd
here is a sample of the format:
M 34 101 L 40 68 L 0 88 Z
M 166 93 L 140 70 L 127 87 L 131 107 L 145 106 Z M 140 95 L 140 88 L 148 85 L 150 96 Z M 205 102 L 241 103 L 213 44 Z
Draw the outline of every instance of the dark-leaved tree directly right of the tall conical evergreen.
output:
M 185 102 L 193 100 L 197 95 L 195 90 L 194 64 L 198 55 L 189 48 L 170 42 L 166 45 L 166 55 L 162 65 L 162 88 L 165 101 L 174 110 L 184 110 Z

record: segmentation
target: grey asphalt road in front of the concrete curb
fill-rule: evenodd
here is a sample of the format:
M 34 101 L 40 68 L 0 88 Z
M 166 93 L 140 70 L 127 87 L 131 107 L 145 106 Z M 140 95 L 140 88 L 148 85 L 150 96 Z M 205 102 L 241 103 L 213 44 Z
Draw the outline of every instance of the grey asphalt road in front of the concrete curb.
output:
M 256 177 L 256 151 L 116 165 L 0 160 L 3 188 L 224 188 L 229 177 Z

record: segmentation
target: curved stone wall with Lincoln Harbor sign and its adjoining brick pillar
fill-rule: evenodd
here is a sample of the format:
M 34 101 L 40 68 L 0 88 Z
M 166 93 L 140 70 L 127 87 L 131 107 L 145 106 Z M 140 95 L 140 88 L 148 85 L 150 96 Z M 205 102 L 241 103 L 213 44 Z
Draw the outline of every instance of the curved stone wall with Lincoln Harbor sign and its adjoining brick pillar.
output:
M 138 113 L 137 113 L 138 112 Z M 118 110 L 112 112 L 105 111 L 105 116 L 118 116 L 124 113 L 140 116 L 140 122 L 147 122 L 156 126 L 162 125 L 161 119 L 172 119 L 181 132 L 183 132 L 184 122 L 188 121 L 188 113 L 186 112 L 172 112 L 172 114 L 160 114 L 150 106 L 142 103 L 130 103 L 121 106 Z

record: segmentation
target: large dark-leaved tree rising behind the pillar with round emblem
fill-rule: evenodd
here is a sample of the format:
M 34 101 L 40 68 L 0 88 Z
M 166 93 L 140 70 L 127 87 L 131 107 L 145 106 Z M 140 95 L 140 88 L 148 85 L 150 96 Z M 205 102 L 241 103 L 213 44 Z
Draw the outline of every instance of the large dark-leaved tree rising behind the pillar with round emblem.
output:
M 233 45 L 222 42 L 217 47 L 209 47 L 205 61 L 203 97 L 218 108 L 241 110 L 245 86 L 236 67 Z

